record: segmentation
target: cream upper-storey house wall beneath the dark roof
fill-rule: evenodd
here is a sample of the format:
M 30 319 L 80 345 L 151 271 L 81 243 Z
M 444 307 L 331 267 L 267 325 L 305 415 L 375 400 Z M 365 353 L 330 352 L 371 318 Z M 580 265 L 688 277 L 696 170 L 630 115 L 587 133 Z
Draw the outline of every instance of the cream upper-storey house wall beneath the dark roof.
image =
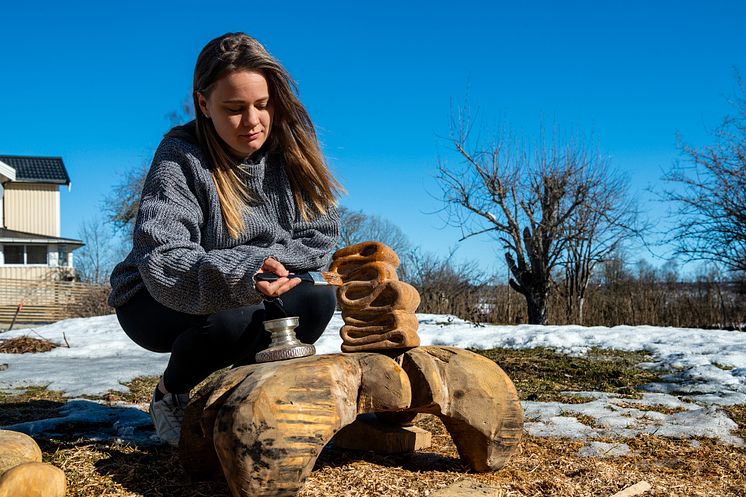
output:
M 5 184 L 5 227 L 60 236 L 60 191 L 57 185 Z

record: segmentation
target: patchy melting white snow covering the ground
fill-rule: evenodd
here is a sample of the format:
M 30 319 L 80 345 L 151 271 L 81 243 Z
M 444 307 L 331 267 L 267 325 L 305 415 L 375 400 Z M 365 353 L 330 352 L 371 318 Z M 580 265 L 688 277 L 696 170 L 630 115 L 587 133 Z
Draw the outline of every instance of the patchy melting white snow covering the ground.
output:
M 569 355 L 583 355 L 592 348 L 648 352 L 642 365 L 673 371 L 661 383 L 646 385 L 640 400 L 599 392 L 583 392 L 584 404 L 524 402 L 525 429 L 536 436 L 593 440 L 627 438 L 642 433 L 666 437 L 712 437 L 742 445 L 732 434 L 736 424 L 721 406 L 746 403 L 746 333 L 652 326 L 475 326 L 454 316 L 419 314 L 423 345 L 462 348 L 548 347 Z M 342 318 L 336 313 L 316 343 L 318 353 L 339 351 Z M 143 375 L 159 375 L 167 354 L 141 349 L 122 332 L 115 316 L 70 319 L 35 328 L 15 330 L 0 338 L 31 335 L 70 347 L 40 354 L 0 354 L 0 389 L 45 385 L 69 397 L 125 391 L 123 383 Z M 664 412 L 651 410 L 659 409 Z M 134 406 L 74 400 L 61 409 L 61 418 L 15 425 L 27 433 L 54 433 L 62 426 L 88 423 L 98 428 L 89 438 L 152 441 L 149 418 Z M 614 446 L 616 447 L 616 445 Z M 612 447 L 611 449 L 614 449 Z M 623 444 L 619 450 L 624 452 Z M 619 455 L 593 442 L 581 452 Z M 627 448 L 628 450 L 628 448 Z

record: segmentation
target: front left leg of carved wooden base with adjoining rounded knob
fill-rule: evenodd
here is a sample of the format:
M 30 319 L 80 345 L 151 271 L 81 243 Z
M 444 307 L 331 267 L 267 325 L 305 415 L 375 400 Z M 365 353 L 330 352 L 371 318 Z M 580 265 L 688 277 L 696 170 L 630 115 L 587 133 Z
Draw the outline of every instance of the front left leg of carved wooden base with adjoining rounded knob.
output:
M 253 366 L 219 409 L 213 438 L 236 496 L 295 495 L 323 447 L 358 412 L 409 405 L 406 376 L 388 357 L 291 363 Z

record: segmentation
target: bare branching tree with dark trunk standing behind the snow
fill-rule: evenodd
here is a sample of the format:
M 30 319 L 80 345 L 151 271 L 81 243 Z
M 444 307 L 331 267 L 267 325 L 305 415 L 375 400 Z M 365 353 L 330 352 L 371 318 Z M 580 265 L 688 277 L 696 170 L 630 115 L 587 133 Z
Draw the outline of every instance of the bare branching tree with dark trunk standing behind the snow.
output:
M 529 322 L 544 323 L 554 269 L 566 262 L 566 272 L 575 268 L 568 279 L 585 288 L 596 261 L 621 243 L 621 226 L 633 221 L 621 212 L 626 189 L 609 193 L 618 185 L 602 174 L 606 161 L 556 138 L 534 153 L 504 137 L 480 148 L 468 142 L 467 115 L 451 121 L 457 161 L 437 167 L 446 223 L 461 229 L 460 241 L 488 234 L 502 244 Z

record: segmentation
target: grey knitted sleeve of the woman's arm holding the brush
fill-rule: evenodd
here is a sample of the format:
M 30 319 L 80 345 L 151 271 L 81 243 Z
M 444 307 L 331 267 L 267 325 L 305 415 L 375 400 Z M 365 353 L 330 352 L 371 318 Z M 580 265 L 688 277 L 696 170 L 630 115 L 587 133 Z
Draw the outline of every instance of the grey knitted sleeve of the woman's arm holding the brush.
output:
M 146 178 L 135 224 L 133 249 L 148 292 L 158 302 L 190 314 L 258 302 L 252 277 L 268 247 L 238 245 L 205 251 L 200 225 L 204 212 L 197 198 L 189 158 L 173 149 L 159 152 Z

